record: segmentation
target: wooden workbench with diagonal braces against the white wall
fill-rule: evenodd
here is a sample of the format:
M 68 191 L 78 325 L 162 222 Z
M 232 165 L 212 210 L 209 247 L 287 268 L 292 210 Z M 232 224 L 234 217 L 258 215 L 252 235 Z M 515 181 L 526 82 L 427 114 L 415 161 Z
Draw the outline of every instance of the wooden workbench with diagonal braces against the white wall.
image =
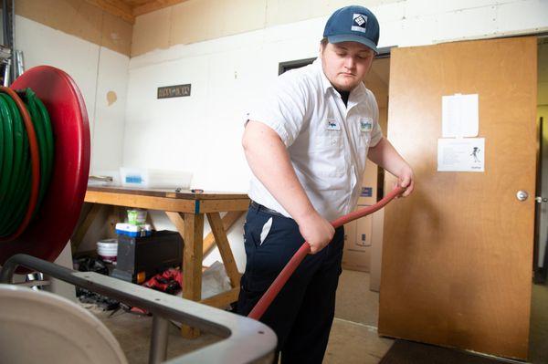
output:
M 85 203 L 93 203 L 90 213 L 80 224 L 77 234 L 83 236 L 98 214 L 101 206 L 125 206 L 160 210 L 167 214 L 184 239 L 183 248 L 183 297 L 213 307 L 227 307 L 237 300 L 240 274 L 227 239 L 227 230 L 248 210 L 247 194 L 227 192 L 174 190 L 141 190 L 122 187 L 88 187 Z M 227 212 L 223 218 L 221 212 Z M 211 226 L 211 233 L 204 238 L 204 215 Z M 219 248 L 232 289 L 202 300 L 202 260 L 214 245 Z M 195 328 L 182 328 L 185 338 L 195 338 Z

